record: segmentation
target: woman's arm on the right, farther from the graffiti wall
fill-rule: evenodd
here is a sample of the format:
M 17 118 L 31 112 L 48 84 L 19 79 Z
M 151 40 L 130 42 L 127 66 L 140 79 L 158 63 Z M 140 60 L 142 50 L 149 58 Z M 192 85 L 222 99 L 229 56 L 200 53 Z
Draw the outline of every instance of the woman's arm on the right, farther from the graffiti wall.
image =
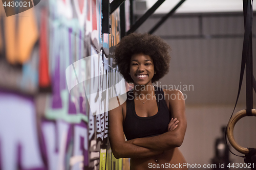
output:
M 176 98 L 174 98 L 174 96 L 176 96 Z M 129 140 L 129 143 L 138 145 L 140 147 L 161 151 L 180 147 L 183 142 L 187 127 L 185 100 L 182 92 L 179 90 L 166 90 L 165 98 L 168 97 L 169 99 L 165 100 L 168 100 L 169 111 L 173 114 L 173 117 L 177 117 L 179 120 L 178 127 L 173 131 L 168 131 L 158 136 Z

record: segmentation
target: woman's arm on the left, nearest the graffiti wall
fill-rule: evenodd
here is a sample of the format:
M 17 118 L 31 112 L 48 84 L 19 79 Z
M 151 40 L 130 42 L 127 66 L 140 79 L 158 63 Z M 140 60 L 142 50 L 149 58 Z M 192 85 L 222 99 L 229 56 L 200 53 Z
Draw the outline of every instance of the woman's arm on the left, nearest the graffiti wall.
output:
M 109 111 L 109 139 L 115 158 L 145 158 L 161 154 L 163 151 L 140 147 L 124 140 L 122 106 Z

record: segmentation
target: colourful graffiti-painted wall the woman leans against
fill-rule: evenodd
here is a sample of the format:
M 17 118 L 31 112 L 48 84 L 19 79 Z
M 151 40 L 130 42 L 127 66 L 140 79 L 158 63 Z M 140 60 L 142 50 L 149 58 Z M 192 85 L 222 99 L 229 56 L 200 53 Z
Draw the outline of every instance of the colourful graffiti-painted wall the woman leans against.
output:
M 101 8 L 101 0 L 45 0 L 6 17 L 0 2 L 0 170 L 129 169 L 111 152 L 101 109 L 119 93 L 106 90 L 121 79 L 119 10 L 102 35 Z

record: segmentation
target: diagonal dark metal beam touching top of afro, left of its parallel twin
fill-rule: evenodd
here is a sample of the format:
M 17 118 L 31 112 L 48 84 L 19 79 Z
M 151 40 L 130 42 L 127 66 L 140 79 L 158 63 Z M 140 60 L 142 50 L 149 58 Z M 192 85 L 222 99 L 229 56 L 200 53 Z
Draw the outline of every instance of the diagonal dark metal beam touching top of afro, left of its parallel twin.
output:
M 135 24 L 131 27 L 131 29 L 129 31 L 127 31 L 126 35 L 129 35 L 131 33 L 133 33 L 134 31 L 136 31 L 141 25 L 142 23 L 148 18 L 150 17 L 157 9 L 158 7 L 160 7 L 160 5 L 164 2 L 165 0 L 158 0 L 156 2 L 156 4 L 153 5 L 153 7 L 151 7 L 151 9 L 147 10 L 146 13 L 140 17 L 140 19 L 138 19 Z

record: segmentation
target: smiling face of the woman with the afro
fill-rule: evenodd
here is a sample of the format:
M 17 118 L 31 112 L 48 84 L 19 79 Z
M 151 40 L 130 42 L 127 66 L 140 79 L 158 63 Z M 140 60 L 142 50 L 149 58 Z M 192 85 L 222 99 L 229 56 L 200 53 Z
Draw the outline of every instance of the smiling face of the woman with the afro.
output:
M 152 84 L 151 80 L 155 74 L 152 58 L 143 53 L 134 54 L 131 58 L 130 74 L 135 85 Z

